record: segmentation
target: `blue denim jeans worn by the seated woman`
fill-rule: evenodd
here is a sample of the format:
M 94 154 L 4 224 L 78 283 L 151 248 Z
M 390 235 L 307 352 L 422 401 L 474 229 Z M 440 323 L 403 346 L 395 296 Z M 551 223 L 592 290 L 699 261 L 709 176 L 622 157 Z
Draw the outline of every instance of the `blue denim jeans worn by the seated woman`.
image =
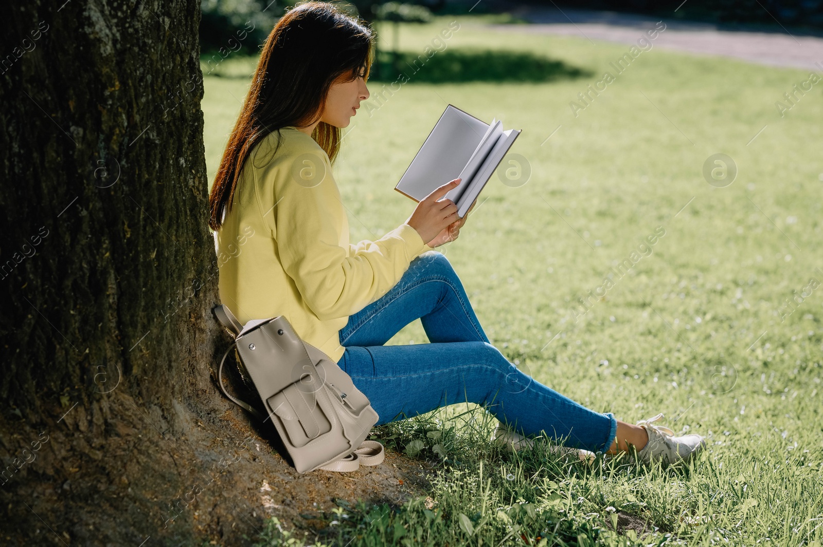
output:
M 430 343 L 385 346 L 420 318 Z M 523 374 L 491 345 L 463 283 L 438 251 L 412 260 L 398 283 L 354 315 L 339 333 L 338 365 L 379 415 L 378 425 L 458 402 L 486 407 L 520 434 L 606 452 L 615 439 L 611 412 L 583 407 Z

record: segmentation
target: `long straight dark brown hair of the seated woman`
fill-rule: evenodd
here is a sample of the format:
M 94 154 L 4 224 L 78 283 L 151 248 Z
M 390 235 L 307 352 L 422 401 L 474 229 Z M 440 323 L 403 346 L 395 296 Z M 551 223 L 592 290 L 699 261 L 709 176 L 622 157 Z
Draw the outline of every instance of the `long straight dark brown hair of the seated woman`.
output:
M 369 68 L 373 34 L 362 22 L 327 2 L 300 2 L 282 16 L 260 53 L 249 94 L 231 131 L 209 195 L 209 228 L 218 230 L 231 208 L 245 159 L 263 138 L 282 127 L 305 127 L 323 113 L 337 78 L 354 80 Z M 339 127 L 319 122 L 312 138 L 332 162 L 340 149 Z M 277 148 L 276 148 L 277 150 Z

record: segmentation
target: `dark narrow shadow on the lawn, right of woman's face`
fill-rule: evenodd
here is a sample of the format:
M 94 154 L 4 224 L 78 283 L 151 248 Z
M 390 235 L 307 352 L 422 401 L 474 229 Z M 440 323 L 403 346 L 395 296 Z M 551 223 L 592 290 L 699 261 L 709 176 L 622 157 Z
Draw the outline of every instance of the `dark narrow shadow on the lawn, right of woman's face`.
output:
M 593 76 L 584 68 L 529 52 L 451 48 L 441 52 L 380 52 L 370 80 L 444 84 L 469 81 L 546 82 Z

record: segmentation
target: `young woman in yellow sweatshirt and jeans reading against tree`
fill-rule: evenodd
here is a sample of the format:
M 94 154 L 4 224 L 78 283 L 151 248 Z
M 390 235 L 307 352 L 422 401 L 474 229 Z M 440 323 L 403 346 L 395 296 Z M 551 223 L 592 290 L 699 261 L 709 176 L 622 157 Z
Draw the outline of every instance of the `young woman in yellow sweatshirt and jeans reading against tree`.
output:
M 631 425 L 589 410 L 491 345 L 449 260 L 434 251 L 466 223 L 441 199 L 458 181 L 384 237 L 349 242 L 332 162 L 341 128 L 369 98 L 372 41 L 323 2 L 298 4 L 269 34 L 209 196 L 223 304 L 242 323 L 285 315 L 346 370 L 379 424 L 475 402 L 500 420 L 495 438 L 509 447 L 545 431 L 575 451 L 631 450 L 646 463 L 700 452 L 699 435 L 653 425 L 662 414 Z M 430 343 L 384 345 L 418 318 Z

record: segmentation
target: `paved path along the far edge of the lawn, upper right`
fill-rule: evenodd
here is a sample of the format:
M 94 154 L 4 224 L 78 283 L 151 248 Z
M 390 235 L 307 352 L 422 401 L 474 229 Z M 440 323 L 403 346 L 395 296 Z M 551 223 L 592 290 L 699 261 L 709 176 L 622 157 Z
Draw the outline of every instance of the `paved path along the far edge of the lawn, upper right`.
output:
M 636 44 L 646 30 L 661 18 L 633 16 L 613 11 L 560 11 L 557 8 L 519 7 L 511 10 L 532 25 L 490 25 L 523 33 L 566 34 L 589 40 Z M 658 34 L 655 48 L 674 49 L 735 57 L 773 67 L 803 68 L 823 73 L 823 38 L 781 32 L 720 30 L 716 25 L 686 21 L 667 21 Z M 778 27 L 779 28 L 779 27 Z

